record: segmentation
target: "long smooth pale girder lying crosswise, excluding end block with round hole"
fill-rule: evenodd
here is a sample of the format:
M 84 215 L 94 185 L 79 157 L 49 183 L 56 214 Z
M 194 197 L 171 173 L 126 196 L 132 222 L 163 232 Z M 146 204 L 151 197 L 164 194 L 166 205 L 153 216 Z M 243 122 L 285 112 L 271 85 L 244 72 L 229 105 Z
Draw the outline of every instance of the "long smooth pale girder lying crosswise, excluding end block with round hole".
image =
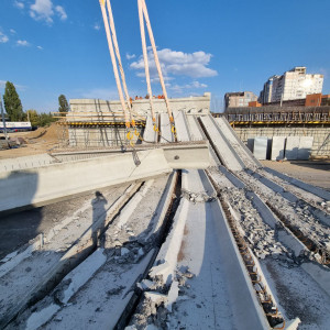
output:
M 170 172 L 161 148 L 6 172 L 0 174 L 0 211 L 43 206 L 76 194 Z

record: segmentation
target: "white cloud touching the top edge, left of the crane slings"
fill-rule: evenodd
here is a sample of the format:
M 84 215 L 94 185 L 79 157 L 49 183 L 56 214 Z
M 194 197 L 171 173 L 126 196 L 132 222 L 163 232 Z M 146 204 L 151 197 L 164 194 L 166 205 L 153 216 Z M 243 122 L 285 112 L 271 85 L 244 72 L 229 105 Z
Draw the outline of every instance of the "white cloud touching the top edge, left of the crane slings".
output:
M 36 21 L 53 23 L 53 16 L 56 13 L 62 21 L 67 19 L 67 14 L 62 6 L 54 7 L 52 0 L 34 0 L 30 7 L 30 15 Z

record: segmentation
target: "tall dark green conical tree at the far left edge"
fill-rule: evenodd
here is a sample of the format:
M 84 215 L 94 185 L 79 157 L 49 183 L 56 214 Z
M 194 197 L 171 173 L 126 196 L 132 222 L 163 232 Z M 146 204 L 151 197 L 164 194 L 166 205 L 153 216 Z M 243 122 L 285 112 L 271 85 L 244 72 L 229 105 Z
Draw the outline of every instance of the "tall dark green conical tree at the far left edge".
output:
M 14 85 L 10 81 L 6 82 L 3 102 L 10 121 L 22 121 L 24 119 L 22 102 Z

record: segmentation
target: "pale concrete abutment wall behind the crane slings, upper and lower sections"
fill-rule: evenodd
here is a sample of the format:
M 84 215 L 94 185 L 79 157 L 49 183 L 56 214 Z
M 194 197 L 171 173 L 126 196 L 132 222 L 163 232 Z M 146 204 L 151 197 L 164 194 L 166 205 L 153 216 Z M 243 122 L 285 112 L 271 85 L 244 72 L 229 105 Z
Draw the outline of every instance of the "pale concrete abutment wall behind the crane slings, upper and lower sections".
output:
M 210 113 L 211 94 L 206 92 L 201 97 L 189 97 L 180 99 L 170 99 L 170 108 L 174 113 L 179 110 L 188 114 Z M 167 116 L 167 109 L 164 99 L 153 99 L 156 113 Z M 150 100 L 134 100 L 132 102 L 133 111 L 140 116 L 135 120 L 145 120 L 151 114 Z M 166 119 L 164 117 L 164 119 Z M 107 123 L 117 121 L 123 123 L 123 112 L 120 101 L 105 101 L 97 99 L 73 99 L 70 100 L 70 112 L 66 116 L 68 122 L 88 122 L 91 125 L 69 125 L 68 140 L 72 147 L 99 147 L 99 146 L 122 146 L 128 145 L 127 130 L 124 127 L 107 125 Z M 105 123 L 103 127 L 95 123 Z M 143 134 L 143 129 L 136 129 L 138 133 Z M 163 132 L 164 133 L 164 132 Z M 136 143 L 138 136 L 133 136 Z

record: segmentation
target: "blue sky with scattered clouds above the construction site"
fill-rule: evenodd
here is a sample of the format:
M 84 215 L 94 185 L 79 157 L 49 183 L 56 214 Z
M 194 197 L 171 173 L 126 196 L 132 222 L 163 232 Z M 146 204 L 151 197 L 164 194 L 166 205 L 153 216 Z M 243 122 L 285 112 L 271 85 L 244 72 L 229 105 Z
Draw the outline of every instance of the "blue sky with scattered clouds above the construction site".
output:
M 111 0 L 130 95 L 145 96 L 136 0 Z M 146 0 L 169 97 L 258 95 L 294 66 L 323 74 L 330 94 L 329 0 Z M 151 72 L 154 74 L 153 65 Z M 1 0 L 0 92 L 12 81 L 24 110 L 57 98 L 118 99 L 98 0 Z M 157 81 L 153 94 L 161 94 Z

